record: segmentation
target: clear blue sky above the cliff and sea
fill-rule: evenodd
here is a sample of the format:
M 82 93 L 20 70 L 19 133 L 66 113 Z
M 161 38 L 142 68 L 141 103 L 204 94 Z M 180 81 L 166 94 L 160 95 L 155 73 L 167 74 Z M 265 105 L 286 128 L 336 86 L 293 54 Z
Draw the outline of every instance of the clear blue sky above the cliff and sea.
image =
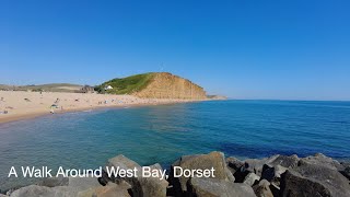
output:
M 349 9 L 349 0 L 1 0 L 0 83 L 168 71 L 234 99 L 350 100 Z

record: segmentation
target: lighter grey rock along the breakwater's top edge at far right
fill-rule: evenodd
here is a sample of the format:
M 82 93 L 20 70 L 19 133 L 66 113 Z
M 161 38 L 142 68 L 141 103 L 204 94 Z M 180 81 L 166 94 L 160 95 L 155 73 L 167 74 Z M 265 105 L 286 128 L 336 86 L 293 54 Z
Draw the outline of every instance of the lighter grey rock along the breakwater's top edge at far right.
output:
M 306 157 L 301 160 L 310 164 L 322 165 L 336 171 L 343 171 L 345 169 L 338 161 L 328 158 L 323 153 L 316 153 L 314 157 Z

